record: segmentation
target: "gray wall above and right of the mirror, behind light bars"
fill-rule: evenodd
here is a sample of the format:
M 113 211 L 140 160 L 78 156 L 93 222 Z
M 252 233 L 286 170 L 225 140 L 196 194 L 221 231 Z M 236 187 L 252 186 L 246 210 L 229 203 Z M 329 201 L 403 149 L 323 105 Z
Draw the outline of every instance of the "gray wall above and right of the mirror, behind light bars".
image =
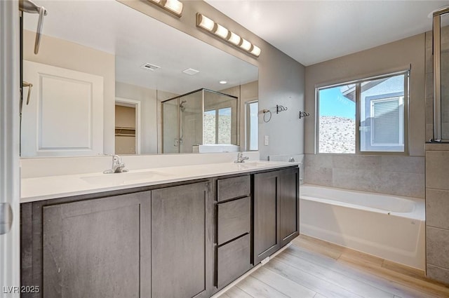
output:
M 273 111 L 272 120 L 269 123 L 262 121 L 263 115 L 260 113 L 260 158 L 267 159 L 267 156 L 272 154 L 303 153 L 304 121 L 298 118 L 299 111 L 304 109 L 303 65 L 204 1 L 184 1 L 181 18 L 176 18 L 147 1 L 119 1 L 259 67 L 259 109 Z M 223 26 L 255 43 L 262 50 L 260 57 L 255 58 L 243 53 L 229 43 L 197 28 L 195 21 L 197 12 L 207 15 L 208 18 L 220 22 Z M 288 107 L 288 111 L 276 114 L 276 104 Z M 268 146 L 263 145 L 264 135 L 269 136 Z

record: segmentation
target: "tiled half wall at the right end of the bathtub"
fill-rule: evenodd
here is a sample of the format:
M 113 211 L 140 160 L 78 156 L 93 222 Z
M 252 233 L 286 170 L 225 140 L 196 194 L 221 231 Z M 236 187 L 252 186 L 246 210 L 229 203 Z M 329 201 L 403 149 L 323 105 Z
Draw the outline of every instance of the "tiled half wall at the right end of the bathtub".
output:
M 449 284 L 449 144 L 426 144 L 427 277 Z

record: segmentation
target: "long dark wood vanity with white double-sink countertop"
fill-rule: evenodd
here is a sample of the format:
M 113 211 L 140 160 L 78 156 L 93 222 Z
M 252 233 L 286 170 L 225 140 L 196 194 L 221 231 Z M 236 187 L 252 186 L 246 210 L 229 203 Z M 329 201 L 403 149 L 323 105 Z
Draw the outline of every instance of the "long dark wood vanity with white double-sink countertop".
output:
M 187 168 L 67 175 L 87 190 L 24 200 L 21 280 L 41 291 L 22 297 L 210 297 L 298 235 L 297 165 Z

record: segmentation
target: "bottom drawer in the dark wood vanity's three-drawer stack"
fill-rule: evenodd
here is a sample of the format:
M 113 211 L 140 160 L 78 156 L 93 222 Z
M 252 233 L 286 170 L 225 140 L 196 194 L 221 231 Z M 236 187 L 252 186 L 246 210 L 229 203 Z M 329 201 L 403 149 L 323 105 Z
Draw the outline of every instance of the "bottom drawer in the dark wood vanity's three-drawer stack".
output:
M 220 288 L 250 269 L 250 234 L 218 248 L 217 258 L 217 287 Z

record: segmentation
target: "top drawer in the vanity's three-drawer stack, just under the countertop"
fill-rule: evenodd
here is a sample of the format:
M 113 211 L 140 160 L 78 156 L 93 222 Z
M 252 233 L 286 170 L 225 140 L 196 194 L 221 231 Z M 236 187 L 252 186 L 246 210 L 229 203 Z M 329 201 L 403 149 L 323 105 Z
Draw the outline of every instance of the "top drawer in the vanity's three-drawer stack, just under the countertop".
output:
M 217 181 L 217 200 L 225 201 L 229 198 L 249 196 L 251 193 L 250 176 L 239 176 L 220 179 Z

